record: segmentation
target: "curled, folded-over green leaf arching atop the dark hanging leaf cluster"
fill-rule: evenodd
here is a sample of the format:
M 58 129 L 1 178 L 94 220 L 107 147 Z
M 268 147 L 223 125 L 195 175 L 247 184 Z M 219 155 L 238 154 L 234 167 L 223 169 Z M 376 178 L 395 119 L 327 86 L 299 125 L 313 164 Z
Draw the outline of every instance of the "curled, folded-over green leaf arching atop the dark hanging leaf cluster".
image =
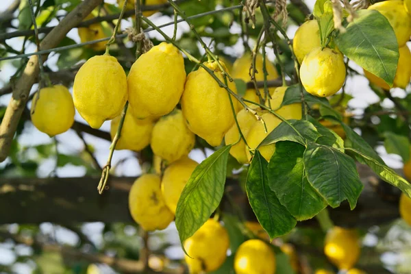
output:
M 295 129 L 297 129 L 301 136 L 297 134 L 297 132 L 292 127 L 290 127 L 290 125 L 288 125 L 285 122 L 282 122 L 277 127 L 275 127 L 275 129 L 269 135 L 267 135 L 266 138 L 264 138 L 264 140 L 262 140 L 259 147 L 285 140 L 298 142 L 301 145 L 305 145 L 306 140 L 315 142 L 321 136 L 321 134 L 317 132 L 314 125 L 312 125 L 312 123 L 310 123 L 309 121 L 288 120 L 288 122 L 293 127 L 295 127 Z

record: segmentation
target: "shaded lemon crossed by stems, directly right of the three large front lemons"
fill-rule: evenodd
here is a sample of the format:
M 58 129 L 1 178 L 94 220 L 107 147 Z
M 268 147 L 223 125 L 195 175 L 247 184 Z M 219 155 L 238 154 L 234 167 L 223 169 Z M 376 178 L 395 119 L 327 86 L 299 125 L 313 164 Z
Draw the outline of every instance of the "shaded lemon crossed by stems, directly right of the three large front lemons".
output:
M 247 136 L 251 126 L 257 121 L 256 116 L 251 114 L 251 112 L 242 109 L 240 112 L 237 113 L 237 121 L 238 125 L 240 125 L 240 129 L 243 136 Z M 225 144 L 234 144 L 240 138 L 240 132 L 238 132 L 238 127 L 236 123 L 230 127 L 228 132 L 225 134 Z M 232 146 L 229 150 L 229 153 L 237 159 L 240 164 L 249 164 L 249 160 L 247 155 L 245 154 L 245 143 L 243 140 L 236 143 L 236 145 Z

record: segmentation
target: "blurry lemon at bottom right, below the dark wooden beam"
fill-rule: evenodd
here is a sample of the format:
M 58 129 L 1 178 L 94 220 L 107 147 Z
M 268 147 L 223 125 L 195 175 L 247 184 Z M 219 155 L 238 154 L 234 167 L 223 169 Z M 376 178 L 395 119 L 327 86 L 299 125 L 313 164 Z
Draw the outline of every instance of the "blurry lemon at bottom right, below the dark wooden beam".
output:
M 356 230 L 333 227 L 325 236 L 324 253 L 338 269 L 351 269 L 360 257 L 360 242 Z

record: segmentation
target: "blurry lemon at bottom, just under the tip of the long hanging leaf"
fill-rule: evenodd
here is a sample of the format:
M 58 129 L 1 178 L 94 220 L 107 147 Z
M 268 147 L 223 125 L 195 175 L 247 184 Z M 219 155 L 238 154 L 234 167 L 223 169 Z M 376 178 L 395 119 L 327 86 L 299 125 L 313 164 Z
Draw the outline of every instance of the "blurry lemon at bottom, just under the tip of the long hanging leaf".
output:
M 216 242 L 217 241 L 217 242 Z M 227 230 L 214 219 L 208 219 L 194 235 L 184 242 L 190 273 L 211 272 L 219 269 L 227 258 L 229 237 Z

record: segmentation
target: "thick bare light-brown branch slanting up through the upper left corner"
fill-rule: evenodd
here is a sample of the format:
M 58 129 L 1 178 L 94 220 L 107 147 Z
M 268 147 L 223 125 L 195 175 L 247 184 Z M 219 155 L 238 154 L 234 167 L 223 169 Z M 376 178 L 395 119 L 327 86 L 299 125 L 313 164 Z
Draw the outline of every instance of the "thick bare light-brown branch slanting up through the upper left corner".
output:
M 60 41 L 66 37 L 66 34 L 75 27 L 75 25 L 86 18 L 102 1 L 103 0 L 86 0 L 77 5 L 72 12 L 60 21 L 59 25 L 47 34 L 40 43 L 40 47 L 42 49 L 57 47 Z M 47 56 L 45 56 L 44 60 L 46 57 Z M 10 103 L 5 110 L 3 121 L 0 125 L 0 162 L 3 162 L 5 158 L 7 158 L 10 151 L 10 145 L 16 133 L 18 121 L 25 109 L 29 92 L 38 76 L 38 70 L 38 56 L 32 55 L 29 62 L 27 62 L 23 74 L 16 81 L 16 88 L 14 88 L 12 99 L 10 99 Z

